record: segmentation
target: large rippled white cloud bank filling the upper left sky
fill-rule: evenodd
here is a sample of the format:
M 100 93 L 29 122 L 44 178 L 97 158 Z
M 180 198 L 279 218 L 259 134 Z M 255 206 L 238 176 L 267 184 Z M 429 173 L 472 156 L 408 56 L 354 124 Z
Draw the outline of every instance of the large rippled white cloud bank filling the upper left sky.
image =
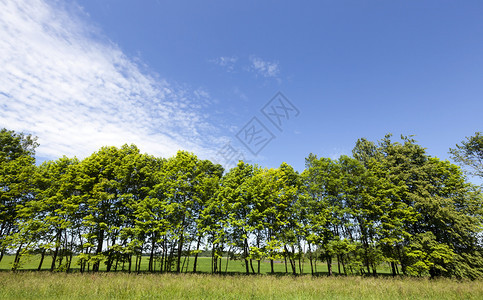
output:
M 85 16 L 55 6 L 0 2 L 0 127 L 37 135 L 49 159 L 124 143 L 164 157 L 217 151 L 223 138 L 201 113 L 208 92 L 147 74 Z

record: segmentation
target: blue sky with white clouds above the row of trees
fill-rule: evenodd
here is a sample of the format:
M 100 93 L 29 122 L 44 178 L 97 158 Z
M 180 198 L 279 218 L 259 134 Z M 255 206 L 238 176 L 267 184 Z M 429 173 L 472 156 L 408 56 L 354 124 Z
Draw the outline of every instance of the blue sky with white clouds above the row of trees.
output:
M 447 159 L 483 130 L 482 16 L 481 1 L 3 1 L 0 126 L 39 136 L 40 160 L 135 143 L 224 163 L 230 145 L 302 170 L 386 133 Z M 277 92 L 299 111 L 281 130 L 261 112 Z M 274 136 L 257 155 L 237 138 L 254 117 Z

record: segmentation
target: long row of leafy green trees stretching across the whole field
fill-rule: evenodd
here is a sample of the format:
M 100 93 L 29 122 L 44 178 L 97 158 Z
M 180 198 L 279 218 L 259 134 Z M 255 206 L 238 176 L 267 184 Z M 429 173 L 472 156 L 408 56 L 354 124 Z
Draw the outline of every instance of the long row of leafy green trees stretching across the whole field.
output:
M 29 135 L 0 132 L 0 260 L 52 257 L 51 271 L 196 272 L 208 249 L 244 263 L 285 261 L 301 272 L 324 261 L 339 273 L 480 278 L 482 196 L 460 168 L 414 140 L 357 141 L 352 157 L 310 154 L 299 174 L 239 162 L 220 165 L 179 151 L 168 159 L 134 145 L 35 165 Z M 191 259 L 188 269 L 186 259 Z

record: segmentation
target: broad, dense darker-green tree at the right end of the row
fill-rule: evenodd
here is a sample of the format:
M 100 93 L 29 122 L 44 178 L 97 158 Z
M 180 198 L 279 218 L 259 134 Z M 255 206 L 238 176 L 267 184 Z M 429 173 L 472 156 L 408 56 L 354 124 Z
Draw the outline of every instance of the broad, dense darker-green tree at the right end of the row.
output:
M 430 157 L 414 139 L 402 136 L 403 143 L 399 143 L 390 138 L 387 135 L 376 152 L 371 150 L 386 170 L 385 175 L 377 174 L 389 180 L 382 186 L 389 201 L 383 206 L 378 233 L 386 258 L 399 262 L 404 274 L 421 273 L 427 267 L 432 277 L 481 277 L 482 198 L 478 190 L 466 182 L 457 166 Z M 361 149 L 373 149 L 361 144 L 365 146 L 357 149 L 358 155 L 368 153 Z M 418 260 L 434 258 L 431 251 L 447 255 L 430 263 Z

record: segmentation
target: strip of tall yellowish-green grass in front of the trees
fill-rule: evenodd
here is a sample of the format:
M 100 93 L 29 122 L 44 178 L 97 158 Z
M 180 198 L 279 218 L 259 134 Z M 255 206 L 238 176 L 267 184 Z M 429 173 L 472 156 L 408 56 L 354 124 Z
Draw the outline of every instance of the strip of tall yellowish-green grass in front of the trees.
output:
M 483 299 L 481 281 L 0 272 L 0 299 Z

